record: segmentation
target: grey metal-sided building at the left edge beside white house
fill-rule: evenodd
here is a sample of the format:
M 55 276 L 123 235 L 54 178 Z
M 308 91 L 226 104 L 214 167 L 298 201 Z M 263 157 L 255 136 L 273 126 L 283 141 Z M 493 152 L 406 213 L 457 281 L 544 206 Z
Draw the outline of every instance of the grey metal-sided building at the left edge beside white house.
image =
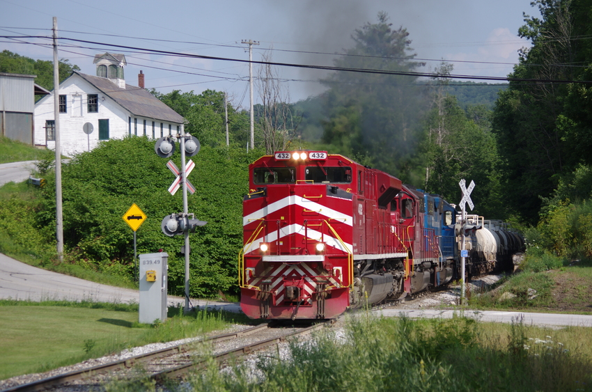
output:
M 36 75 L 0 72 L 0 135 L 33 145 L 35 95 L 48 95 Z

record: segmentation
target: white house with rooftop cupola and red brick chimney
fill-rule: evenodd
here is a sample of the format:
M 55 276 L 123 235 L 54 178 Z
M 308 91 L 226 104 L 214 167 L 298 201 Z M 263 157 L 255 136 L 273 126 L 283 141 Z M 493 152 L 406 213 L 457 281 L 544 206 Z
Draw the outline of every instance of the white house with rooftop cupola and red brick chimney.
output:
M 98 76 L 73 71 L 60 84 L 59 127 L 63 155 L 88 151 L 102 140 L 120 139 L 125 135 L 158 139 L 180 131 L 184 118 L 144 89 L 141 71 L 139 86 L 125 83 L 123 54 L 98 54 L 94 63 Z M 54 94 L 39 100 L 34 113 L 33 142 L 54 150 Z

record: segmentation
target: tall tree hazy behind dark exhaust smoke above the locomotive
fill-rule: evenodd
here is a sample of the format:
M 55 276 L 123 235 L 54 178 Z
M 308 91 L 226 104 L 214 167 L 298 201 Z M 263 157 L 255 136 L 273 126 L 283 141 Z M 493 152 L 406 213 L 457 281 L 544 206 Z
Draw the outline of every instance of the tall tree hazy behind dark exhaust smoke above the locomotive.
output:
M 334 65 L 396 72 L 423 65 L 413 61 L 407 30 L 392 29 L 388 20 L 387 13 L 380 12 L 376 23 L 356 29 L 355 46 Z M 322 141 L 332 151 L 366 155 L 377 168 L 405 181 L 423 180 L 418 148 L 426 91 L 414 84 L 413 77 L 339 71 L 322 83 L 329 87 L 324 95 L 327 120 Z

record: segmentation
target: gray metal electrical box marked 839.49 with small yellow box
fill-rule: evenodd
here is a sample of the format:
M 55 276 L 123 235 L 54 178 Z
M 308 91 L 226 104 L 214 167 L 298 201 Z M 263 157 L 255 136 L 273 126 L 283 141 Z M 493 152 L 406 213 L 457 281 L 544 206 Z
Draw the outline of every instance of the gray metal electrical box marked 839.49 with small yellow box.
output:
M 169 254 L 144 253 L 140 257 L 140 320 L 154 324 L 166 320 L 166 279 Z

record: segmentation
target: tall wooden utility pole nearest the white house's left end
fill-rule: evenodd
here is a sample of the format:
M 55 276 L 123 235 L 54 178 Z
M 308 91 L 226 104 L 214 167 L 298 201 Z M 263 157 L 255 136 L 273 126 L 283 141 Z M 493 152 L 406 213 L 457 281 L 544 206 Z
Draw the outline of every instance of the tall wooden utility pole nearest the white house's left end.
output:
M 58 60 L 58 18 L 54 17 L 54 139 L 56 140 L 56 240 L 63 261 L 62 157 L 60 147 L 60 71 Z

